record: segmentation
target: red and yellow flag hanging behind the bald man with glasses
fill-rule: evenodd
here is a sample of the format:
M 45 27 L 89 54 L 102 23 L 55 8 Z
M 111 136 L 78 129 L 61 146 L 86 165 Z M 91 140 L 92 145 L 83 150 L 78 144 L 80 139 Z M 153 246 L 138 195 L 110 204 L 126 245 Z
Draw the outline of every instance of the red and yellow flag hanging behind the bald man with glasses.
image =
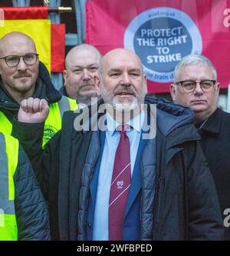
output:
M 3 7 L 0 14 L 0 38 L 8 32 L 23 32 L 33 38 L 49 71 L 64 70 L 65 25 L 51 24 L 47 7 Z

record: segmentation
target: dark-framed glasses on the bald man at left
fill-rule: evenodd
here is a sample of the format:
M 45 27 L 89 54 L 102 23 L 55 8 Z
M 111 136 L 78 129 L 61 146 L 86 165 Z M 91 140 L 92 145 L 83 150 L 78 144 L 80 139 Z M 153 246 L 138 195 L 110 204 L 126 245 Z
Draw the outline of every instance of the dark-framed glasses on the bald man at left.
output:
M 8 55 L 5 57 L 1 57 L 0 59 L 4 59 L 6 65 L 8 67 L 14 68 L 18 65 L 20 62 L 20 58 L 23 59 L 26 65 L 34 65 L 38 60 L 38 54 L 37 53 L 28 53 L 26 55 L 18 56 L 18 55 Z

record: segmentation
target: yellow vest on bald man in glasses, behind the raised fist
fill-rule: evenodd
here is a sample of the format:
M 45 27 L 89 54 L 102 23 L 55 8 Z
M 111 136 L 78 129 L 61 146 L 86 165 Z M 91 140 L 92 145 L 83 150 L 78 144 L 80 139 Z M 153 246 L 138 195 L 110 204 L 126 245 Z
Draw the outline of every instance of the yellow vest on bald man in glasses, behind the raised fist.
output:
M 50 105 L 50 112 L 48 118 L 44 122 L 44 135 L 43 143 L 44 145 L 54 136 L 54 134 L 61 130 L 61 118 L 64 111 L 76 110 L 77 102 L 72 98 L 67 98 L 65 96 L 61 97 L 61 100 L 54 102 Z M 5 135 L 11 135 L 12 124 L 8 121 L 8 118 L 0 111 L 0 132 Z

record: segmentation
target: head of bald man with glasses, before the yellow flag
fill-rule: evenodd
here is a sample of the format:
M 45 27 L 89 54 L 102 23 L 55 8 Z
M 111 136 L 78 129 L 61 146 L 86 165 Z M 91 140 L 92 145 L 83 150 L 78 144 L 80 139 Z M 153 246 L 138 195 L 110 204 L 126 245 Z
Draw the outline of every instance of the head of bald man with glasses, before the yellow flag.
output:
M 0 40 L 0 57 L 2 57 L 0 59 L 0 75 L 2 85 L 18 102 L 31 97 L 35 92 L 39 65 L 39 58 L 36 54 L 35 42 L 24 33 L 11 32 Z M 12 61 L 16 59 L 16 65 L 8 65 L 7 59 L 4 58 L 7 56 L 8 60 Z M 28 65 L 25 62 L 25 56 L 27 58 L 31 58 L 30 56 L 32 56 L 35 62 Z

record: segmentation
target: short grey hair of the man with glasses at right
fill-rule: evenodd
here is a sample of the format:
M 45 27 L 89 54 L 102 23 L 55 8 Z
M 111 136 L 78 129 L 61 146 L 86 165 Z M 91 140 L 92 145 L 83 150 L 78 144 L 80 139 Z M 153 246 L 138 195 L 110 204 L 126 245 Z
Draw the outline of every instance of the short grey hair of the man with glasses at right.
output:
M 179 71 L 182 67 L 189 66 L 189 65 L 200 65 L 200 66 L 208 66 L 213 74 L 214 80 L 217 80 L 217 73 L 214 65 L 209 60 L 209 58 L 206 58 L 204 55 L 186 55 L 182 60 L 176 65 L 176 68 L 174 70 L 174 82 L 176 82 L 176 79 L 179 75 Z

